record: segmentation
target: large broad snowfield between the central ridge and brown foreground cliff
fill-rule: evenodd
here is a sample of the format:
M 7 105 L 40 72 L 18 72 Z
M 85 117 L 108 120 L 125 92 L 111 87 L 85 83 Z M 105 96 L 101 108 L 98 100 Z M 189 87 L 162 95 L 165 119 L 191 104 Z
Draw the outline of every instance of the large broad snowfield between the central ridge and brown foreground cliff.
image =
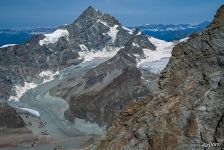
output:
M 175 44 L 153 37 L 149 37 L 149 41 L 156 46 L 156 50 L 143 49 L 145 58 L 139 59 L 137 66 L 152 73 L 159 73 L 166 67 Z

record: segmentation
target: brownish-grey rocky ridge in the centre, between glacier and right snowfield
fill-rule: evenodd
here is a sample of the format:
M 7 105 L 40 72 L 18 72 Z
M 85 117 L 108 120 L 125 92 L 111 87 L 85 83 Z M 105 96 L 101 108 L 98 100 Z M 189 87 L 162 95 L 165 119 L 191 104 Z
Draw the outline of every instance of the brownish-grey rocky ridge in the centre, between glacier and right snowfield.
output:
M 133 46 L 133 42 L 139 47 Z M 141 79 L 134 56 L 144 57 L 143 48 L 155 46 L 136 31 L 114 57 L 87 71 L 81 80 L 74 77 L 69 79 L 69 83 L 52 89 L 52 95 L 68 100 L 67 119 L 80 118 L 110 127 L 124 106 L 148 94 L 150 91 Z M 77 80 L 82 82 L 75 84 Z

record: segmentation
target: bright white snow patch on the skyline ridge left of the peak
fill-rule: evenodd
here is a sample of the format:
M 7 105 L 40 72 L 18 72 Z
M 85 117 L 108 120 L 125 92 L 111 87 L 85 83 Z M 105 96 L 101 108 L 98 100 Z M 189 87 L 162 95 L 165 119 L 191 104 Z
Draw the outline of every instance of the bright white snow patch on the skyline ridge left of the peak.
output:
M 61 37 L 68 37 L 69 32 L 65 29 L 58 29 L 56 31 L 54 31 L 53 33 L 50 34 L 44 34 L 45 38 L 43 40 L 39 41 L 39 44 L 41 46 L 48 45 L 48 44 L 53 44 L 56 43 L 58 41 L 59 38 Z M 68 38 L 67 38 L 68 40 Z

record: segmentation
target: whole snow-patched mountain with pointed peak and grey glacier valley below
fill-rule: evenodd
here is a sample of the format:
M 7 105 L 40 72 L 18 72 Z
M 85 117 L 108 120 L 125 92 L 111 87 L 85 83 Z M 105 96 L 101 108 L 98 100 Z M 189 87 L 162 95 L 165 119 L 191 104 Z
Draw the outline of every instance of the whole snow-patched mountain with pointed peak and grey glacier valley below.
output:
M 15 136 L 13 145 L 36 149 L 49 141 L 69 149 L 92 144 L 129 102 L 157 89 L 173 45 L 89 7 L 70 25 L 2 47 L 0 99 L 8 104 L 0 114 L 9 115 L 0 117 L 0 129 L 16 128 L 23 138 Z M 78 141 L 71 144 L 72 138 Z M 11 142 L 0 140 L 0 146 Z

